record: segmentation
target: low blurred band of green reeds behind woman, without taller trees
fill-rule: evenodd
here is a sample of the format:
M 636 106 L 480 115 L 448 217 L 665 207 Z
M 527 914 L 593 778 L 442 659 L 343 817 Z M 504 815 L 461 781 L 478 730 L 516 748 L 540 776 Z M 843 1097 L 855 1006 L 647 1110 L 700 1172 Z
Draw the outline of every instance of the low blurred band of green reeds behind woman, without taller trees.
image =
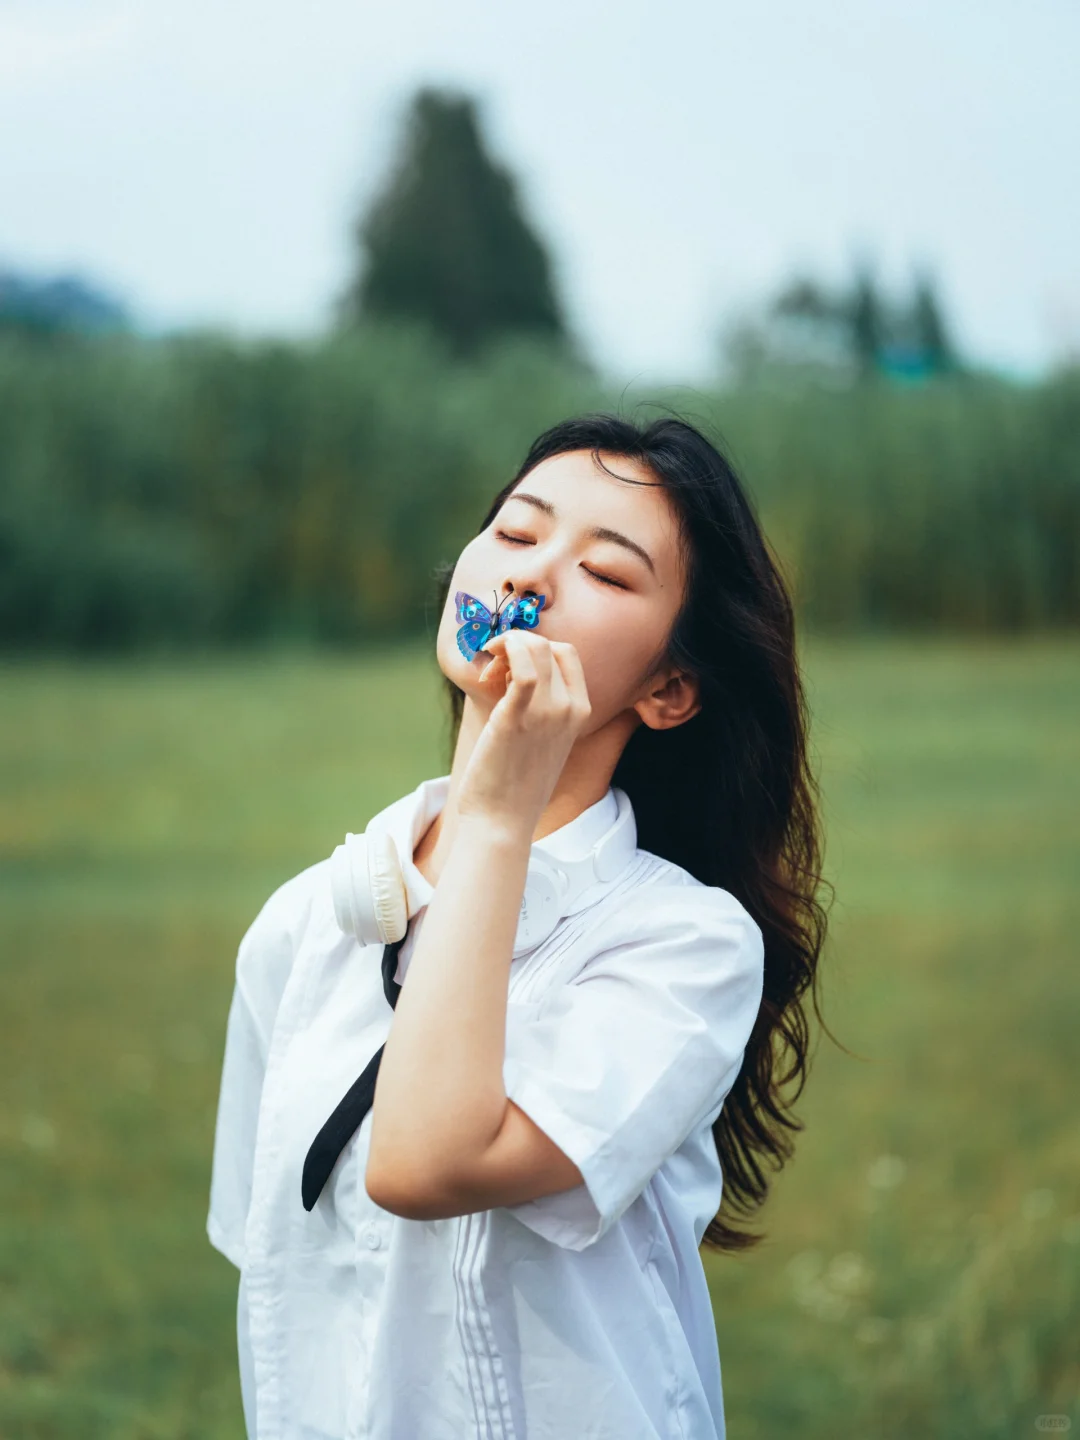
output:
M 1080 372 L 1038 387 L 658 396 L 719 433 L 832 628 L 1080 622 Z M 432 570 L 531 438 L 625 395 L 540 341 L 0 344 L 0 641 L 75 648 L 433 624 Z

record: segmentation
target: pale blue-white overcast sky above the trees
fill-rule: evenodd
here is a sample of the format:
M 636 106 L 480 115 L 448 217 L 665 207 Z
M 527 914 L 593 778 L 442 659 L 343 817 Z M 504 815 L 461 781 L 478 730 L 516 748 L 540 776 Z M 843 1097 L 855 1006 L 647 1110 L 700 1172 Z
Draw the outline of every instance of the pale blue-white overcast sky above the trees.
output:
M 857 255 L 1034 373 L 1080 350 L 1079 75 L 1076 0 L 0 0 L 0 265 L 310 333 L 444 82 L 621 376 L 704 377 L 726 315 Z

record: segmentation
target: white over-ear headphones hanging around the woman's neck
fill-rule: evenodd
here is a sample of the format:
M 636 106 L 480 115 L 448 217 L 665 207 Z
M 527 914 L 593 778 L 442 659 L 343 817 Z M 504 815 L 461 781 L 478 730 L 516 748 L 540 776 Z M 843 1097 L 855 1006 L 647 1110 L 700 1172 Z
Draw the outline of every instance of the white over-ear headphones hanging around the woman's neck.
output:
M 517 920 L 514 956 L 546 940 L 592 886 L 615 880 L 636 848 L 634 808 L 625 791 L 612 788 L 619 812 L 580 860 L 556 860 L 543 850 L 528 857 L 526 890 Z M 384 832 L 346 835 L 330 857 L 334 916 L 346 935 L 361 945 L 393 945 L 409 926 L 409 903 L 402 863 Z

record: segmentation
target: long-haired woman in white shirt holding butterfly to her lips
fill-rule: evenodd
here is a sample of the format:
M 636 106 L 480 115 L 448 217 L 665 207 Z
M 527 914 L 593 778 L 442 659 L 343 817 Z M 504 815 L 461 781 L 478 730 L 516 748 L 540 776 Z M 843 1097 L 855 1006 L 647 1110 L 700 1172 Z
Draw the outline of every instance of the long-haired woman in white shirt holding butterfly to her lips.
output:
M 248 1433 L 717 1440 L 698 1246 L 760 1238 L 824 936 L 789 598 L 675 419 L 541 435 L 445 579 L 451 772 L 367 825 L 403 943 L 320 861 L 238 955 L 207 1231 Z M 472 654 L 461 598 L 536 624 Z

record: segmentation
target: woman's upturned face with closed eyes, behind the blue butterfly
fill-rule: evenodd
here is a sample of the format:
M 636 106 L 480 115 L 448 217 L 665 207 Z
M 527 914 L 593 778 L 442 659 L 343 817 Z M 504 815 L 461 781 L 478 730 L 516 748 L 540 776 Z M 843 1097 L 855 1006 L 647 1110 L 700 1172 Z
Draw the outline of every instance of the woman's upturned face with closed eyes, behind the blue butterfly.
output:
M 458 557 L 436 642 L 442 672 L 478 697 L 490 658 L 458 649 L 454 596 L 488 609 L 495 596 L 543 595 L 536 634 L 577 649 L 599 729 L 651 690 L 683 603 L 678 518 L 667 491 L 639 462 L 590 451 L 553 455 L 503 501 L 495 518 Z M 625 484 L 625 475 L 644 484 Z

